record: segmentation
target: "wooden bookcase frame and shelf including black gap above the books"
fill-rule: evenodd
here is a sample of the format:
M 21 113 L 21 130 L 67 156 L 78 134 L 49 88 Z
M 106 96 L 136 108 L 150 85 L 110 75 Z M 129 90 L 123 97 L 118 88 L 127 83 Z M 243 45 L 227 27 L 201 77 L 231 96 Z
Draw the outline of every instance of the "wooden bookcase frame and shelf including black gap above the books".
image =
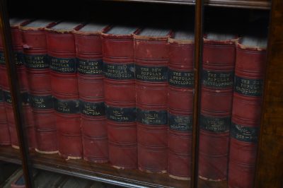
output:
M 283 3 L 279 0 L 129 0 L 129 1 L 5 1 L 1 0 L 1 36 L 11 84 L 11 98 L 15 114 L 20 150 L 0 146 L 0 160 L 22 164 L 27 187 L 33 187 L 32 170 L 59 172 L 88 180 L 96 180 L 122 187 L 227 187 L 227 181 L 199 179 L 199 117 L 202 37 L 207 28 L 222 30 L 231 28 L 238 35 L 268 31 L 267 65 L 263 91 L 258 154 L 254 187 L 282 187 L 283 176 Z M 163 26 L 195 30 L 194 49 L 194 108 L 192 124 L 191 180 L 175 180 L 167 174 L 152 174 L 139 170 L 118 170 L 108 163 L 88 163 L 82 159 L 64 160 L 57 154 L 46 155 L 29 151 L 25 139 L 20 90 L 13 59 L 10 17 L 48 18 L 51 20 L 96 20 L 112 24 Z M 255 20 L 255 21 L 253 21 Z M 251 24 L 253 23 L 253 24 Z M 267 29 L 268 28 L 268 29 Z

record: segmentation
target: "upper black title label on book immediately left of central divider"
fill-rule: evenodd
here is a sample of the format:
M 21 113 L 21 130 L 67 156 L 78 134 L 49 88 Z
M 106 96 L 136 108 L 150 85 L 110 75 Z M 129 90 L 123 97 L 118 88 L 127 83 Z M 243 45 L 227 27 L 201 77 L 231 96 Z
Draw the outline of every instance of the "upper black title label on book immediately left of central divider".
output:
M 192 88 L 194 86 L 193 71 L 168 70 L 169 84 L 182 88 Z

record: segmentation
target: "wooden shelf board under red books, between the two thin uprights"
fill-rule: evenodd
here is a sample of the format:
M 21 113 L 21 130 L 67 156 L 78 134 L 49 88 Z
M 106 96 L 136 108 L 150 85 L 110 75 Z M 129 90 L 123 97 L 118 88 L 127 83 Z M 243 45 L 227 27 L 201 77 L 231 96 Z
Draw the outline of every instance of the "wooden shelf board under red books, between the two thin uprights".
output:
M 96 180 L 122 187 L 190 187 L 190 181 L 175 180 L 167 174 L 151 174 L 139 170 L 117 170 L 109 164 L 88 163 L 85 160 L 64 160 L 58 154 L 31 153 L 33 167 L 64 175 Z

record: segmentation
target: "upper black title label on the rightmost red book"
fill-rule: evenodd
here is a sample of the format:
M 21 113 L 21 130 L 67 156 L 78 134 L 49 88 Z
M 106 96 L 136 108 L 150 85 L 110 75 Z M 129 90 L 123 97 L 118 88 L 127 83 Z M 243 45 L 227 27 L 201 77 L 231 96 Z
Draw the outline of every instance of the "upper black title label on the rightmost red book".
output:
M 235 76 L 235 88 L 237 93 L 248 96 L 261 96 L 262 95 L 262 79 L 248 79 Z

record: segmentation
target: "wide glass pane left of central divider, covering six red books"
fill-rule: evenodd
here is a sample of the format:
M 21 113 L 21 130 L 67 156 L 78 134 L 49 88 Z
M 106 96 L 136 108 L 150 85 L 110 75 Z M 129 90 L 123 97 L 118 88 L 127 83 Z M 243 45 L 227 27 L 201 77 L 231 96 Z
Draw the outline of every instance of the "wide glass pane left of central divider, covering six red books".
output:
M 127 187 L 189 187 L 194 7 L 56 4 L 14 13 L 38 18 L 18 38 L 34 167 Z

